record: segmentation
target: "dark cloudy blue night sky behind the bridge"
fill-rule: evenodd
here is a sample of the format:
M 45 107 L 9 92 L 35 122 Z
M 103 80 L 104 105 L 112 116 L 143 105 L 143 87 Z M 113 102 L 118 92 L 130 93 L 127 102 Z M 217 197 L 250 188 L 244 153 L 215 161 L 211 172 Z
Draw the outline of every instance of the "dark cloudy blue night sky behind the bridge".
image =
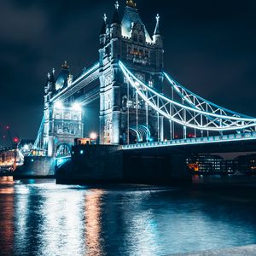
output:
M 125 0 L 119 1 L 120 13 Z M 43 116 L 46 74 L 68 61 L 75 76 L 98 59 L 102 15 L 113 0 L 1 0 L 0 145 L 4 126 L 35 138 Z M 165 68 L 212 102 L 256 116 L 256 1 L 137 0 L 148 32 L 160 14 Z

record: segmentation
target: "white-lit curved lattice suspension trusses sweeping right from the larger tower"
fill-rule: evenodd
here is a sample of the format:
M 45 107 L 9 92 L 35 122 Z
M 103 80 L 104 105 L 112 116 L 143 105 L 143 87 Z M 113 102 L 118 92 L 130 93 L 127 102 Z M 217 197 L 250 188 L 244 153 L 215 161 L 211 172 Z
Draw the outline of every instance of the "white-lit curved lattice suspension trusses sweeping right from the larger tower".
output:
M 183 125 L 184 128 L 190 127 L 201 131 L 243 131 L 256 126 L 256 119 L 221 108 L 201 96 L 196 96 L 166 73 L 164 75 L 176 90 L 180 97 L 179 101 L 170 99 L 144 84 L 121 61 L 119 67 L 129 84 L 137 91 L 137 95 L 148 106 L 166 119 Z

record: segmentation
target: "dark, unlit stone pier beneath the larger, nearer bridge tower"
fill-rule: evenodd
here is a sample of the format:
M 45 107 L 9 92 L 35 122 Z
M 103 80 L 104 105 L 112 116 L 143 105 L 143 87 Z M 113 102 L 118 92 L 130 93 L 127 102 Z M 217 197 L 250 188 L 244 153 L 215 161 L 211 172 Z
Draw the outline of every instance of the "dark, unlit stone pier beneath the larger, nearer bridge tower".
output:
M 151 183 L 190 181 L 183 154 L 122 150 L 113 145 L 78 145 L 56 172 L 57 183 Z

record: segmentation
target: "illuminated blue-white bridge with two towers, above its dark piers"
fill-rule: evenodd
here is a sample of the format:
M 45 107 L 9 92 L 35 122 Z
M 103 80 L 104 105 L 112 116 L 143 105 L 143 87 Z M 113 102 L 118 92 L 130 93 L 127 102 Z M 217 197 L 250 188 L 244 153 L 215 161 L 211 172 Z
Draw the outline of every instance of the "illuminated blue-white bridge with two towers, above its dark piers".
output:
M 104 15 L 99 61 L 74 79 L 67 62 L 56 79 L 49 73 L 34 149 L 49 156 L 70 154 L 73 139 L 84 137 L 90 125 L 84 117 L 91 102 L 98 102 L 101 144 L 158 148 L 256 138 L 256 119 L 197 96 L 163 71 L 159 15 L 153 37 L 132 0 L 122 19 L 116 3 L 110 21 Z

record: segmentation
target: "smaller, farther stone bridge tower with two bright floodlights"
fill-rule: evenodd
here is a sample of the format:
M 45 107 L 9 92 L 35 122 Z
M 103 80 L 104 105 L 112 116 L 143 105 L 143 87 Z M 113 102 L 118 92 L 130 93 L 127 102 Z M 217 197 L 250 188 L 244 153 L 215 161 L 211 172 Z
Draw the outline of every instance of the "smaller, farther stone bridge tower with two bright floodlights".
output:
M 79 104 L 69 100 L 55 100 L 55 96 L 69 86 L 71 80 L 67 61 L 62 65 L 56 80 L 54 69 L 52 73 L 48 73 L 44 87 L 43 145 L 39 147 L 43 148 L 48 156 L 71 154 L 74 138 L 83 137 L 83 113 Z

